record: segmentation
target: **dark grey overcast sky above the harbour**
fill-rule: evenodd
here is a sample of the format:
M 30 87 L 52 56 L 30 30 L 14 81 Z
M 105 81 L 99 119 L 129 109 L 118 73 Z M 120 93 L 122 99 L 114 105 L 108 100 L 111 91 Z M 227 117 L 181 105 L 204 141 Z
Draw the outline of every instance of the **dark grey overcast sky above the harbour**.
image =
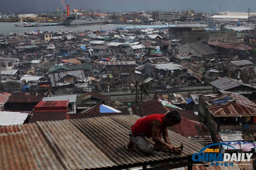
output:
M 172 9 L 194 9 L 197 12 L 246 11 L 249 7 L 256 11 L 256 0 L 64 0 L 70 9 L 100 9 L 110 12 L 148 11 Z M 11 12 L 53 12 L 60 7 L 61 0 L 1 0 L 0 11 Z

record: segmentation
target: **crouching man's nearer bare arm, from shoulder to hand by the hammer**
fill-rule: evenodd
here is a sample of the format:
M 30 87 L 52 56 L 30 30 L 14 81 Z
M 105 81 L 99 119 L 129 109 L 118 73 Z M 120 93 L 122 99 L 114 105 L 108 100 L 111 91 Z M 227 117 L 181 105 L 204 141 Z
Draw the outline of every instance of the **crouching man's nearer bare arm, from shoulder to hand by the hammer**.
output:
M 152 124 L 152 140 L 166 146 L 169 150 L 173 150 L 173 145 L 162 141 L 162 139 L 159 137 L 161 123 L 158 120 L 153 120 L 150 124 Z

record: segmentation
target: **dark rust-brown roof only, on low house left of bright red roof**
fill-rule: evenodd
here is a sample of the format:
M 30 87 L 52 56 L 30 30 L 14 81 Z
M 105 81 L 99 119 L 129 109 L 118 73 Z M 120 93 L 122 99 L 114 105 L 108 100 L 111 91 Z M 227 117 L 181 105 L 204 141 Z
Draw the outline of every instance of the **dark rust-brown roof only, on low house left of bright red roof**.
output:
M 44 96 L 34 95 L 29 92 L 13 92 L 9 96 L 8 103 L 39 103 Z

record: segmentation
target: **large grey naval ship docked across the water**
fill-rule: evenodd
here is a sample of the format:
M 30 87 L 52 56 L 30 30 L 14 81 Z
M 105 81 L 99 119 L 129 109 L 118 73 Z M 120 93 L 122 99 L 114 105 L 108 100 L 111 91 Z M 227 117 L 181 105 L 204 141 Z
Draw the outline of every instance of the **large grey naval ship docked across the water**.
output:
M 63 25 L 85 25 L 85 24 L 105 24 L 106 18 L 90 18 L 90 16 L 75 15 L 67 17 Z

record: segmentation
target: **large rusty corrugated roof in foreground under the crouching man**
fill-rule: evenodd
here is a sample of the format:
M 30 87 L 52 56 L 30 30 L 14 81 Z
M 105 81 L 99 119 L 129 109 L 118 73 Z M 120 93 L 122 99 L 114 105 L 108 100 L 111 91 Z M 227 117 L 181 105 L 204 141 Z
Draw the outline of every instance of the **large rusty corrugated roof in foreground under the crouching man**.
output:
M 2 162 L 0 169 L 121 169 L 127 165 L 135 167 L 139 163 L 148 165 L 163 160 L 170 162 L 172 158 L 187 159 L 203 148 L 169 131 L 173 145 L 183 143 L 182 154 L 154 151 L 152 155 L 145 156 L 139 150 L 127 151 L 124 142 L 129 140 L 129 129 L 139 118 L 120 115 L 20 125 L 20 132 L 4 136 L 11 140 L 1 141 L 1 146 L 4 146 L 1 157 L 6 158 L 7 163 Z M 148 141 L 152 147 L 153 141 Z M 5 157 L 10 153 L 8 146 L 14 150 L 11 150 L 11 156 Z M 18 164 L 12 166 L 8 162 Z

